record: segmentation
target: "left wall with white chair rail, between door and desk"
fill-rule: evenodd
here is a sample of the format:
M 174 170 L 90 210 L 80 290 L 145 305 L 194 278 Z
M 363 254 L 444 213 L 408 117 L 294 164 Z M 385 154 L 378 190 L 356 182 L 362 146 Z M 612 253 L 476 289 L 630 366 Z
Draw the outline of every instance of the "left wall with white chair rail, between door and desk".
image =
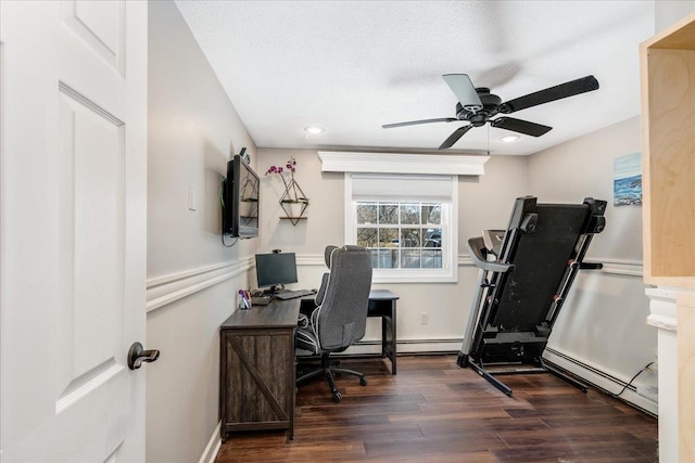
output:
M 256 149 L 175 3 L 150 2 L 149 27 L 147 461 L 195 462 L 219 443 L 218 330 L 256 245 L 223 247 L 219 185 Z

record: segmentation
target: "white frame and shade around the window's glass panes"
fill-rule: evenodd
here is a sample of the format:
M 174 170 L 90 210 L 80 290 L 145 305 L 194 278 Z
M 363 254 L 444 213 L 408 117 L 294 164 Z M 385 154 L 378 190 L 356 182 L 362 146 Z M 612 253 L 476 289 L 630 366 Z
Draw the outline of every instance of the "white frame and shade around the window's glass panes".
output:
M 403 189 L 402 193 L 393 191 L 372 191 L 369 195 L 353 197 L 353 179 L 397 179 L 403 185 L 416 181 L 446 181 L 451 189 L 446 197 L 428 198 L 413 196 L 410 189 Z M 357 202 L 425 202 L 440 203 L 442 229 L 442 268 L 441 269 L 374 269 L 374 283 L 451 283 L 458 281 L 458 177 L 457 176 L 418 176 L 397 173 L 353 173 L 345 172 L 345 243 L 357 242 Z

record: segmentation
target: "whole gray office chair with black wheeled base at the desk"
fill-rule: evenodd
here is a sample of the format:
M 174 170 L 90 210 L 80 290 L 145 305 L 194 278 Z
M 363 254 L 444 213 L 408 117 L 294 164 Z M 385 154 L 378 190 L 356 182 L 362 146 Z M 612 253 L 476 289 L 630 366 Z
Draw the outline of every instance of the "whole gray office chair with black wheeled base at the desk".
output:
M 371 254 L 362 246 L 327 246 L 321 287 L 316 295 L 316 308 L 308 316 L 300 316 L 296 331 L 298 349 L 321 356 L 319 369 L 303 374 L 296 385 L 324 375 L 340 402 L 342 395 L 336 387 L 333 373 L 352 374 L 359 384 L 367 385 L 364 374 L 338 365 L 331 365 L 331 352 L 341 352 L 362 339 L 367 325 L 367 307 L 371 287 Z

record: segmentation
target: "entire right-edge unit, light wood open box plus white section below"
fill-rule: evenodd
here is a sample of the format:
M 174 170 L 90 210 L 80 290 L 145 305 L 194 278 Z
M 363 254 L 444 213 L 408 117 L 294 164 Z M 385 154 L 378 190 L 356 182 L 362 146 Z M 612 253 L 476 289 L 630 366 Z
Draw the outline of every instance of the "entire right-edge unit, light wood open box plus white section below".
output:
M 695 461 L 695 14 L 642 43 L 640 53 L 644 282 L 678 298 L 678 350 L 671 333 L 659 333 L 667 365 L 659 369 L 660 394 L 678 390 L 678 407 L 667 407 L 670 397 L 659 400 L 659 456 L 686 462 Z

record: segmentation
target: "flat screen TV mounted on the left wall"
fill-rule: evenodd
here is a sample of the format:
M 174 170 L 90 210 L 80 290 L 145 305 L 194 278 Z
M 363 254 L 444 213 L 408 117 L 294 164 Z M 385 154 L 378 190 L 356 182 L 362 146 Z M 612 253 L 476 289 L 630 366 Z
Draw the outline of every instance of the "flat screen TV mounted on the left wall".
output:
M 239 155 L 227 163 L 222 232 L 233 237 L 258 236 L 261 180 Z

